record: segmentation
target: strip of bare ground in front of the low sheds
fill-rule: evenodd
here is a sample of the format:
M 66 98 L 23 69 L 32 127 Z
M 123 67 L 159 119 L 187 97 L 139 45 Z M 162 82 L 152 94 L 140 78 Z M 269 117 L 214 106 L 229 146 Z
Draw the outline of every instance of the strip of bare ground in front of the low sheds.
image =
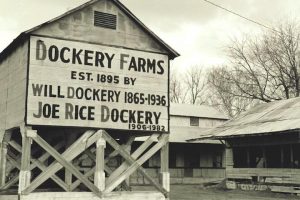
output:
M 134 190 L 155 190 L 150 187 L 135 187 Z M 300 200 L 299 196 L 272 192 L 223 190 L 204 188 L 199 185 L 171 185 L 170 200 Z

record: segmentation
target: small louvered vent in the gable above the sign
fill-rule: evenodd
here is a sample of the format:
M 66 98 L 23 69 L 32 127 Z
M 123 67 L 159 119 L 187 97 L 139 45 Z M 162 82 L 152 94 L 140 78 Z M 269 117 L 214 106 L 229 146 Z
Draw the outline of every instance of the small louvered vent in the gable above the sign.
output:
M 94 11 L 94 26 L 117 29 L 117 15 Z

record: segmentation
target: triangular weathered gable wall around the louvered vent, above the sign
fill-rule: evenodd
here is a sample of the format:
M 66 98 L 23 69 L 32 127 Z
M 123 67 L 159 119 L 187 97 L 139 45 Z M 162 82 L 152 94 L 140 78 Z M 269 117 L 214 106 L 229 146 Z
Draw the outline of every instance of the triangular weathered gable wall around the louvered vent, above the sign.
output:
M 95 27 L 94 11 L 117 15 L 117 29 Z M 34 31 L 33 34 L 167 53 L 133 20 L 108 0 L 98 1 L 67 15 Z

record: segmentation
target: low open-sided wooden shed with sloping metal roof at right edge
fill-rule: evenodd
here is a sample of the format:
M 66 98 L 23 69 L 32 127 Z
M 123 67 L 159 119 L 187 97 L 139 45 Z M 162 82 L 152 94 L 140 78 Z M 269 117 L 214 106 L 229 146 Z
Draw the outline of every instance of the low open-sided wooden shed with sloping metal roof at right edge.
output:
M 227 187 L 299 193 L 300 98 L 255 106 L 203 138 L 226 142 Z

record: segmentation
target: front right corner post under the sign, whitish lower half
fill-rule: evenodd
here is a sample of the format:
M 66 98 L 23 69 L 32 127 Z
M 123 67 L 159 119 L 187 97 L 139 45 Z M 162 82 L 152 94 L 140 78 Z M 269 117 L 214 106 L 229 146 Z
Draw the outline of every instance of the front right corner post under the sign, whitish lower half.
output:
M 160 181 L 163 188 L 170 192 L 170 173 L 169 173 L 169 142 L 160 150 Z

